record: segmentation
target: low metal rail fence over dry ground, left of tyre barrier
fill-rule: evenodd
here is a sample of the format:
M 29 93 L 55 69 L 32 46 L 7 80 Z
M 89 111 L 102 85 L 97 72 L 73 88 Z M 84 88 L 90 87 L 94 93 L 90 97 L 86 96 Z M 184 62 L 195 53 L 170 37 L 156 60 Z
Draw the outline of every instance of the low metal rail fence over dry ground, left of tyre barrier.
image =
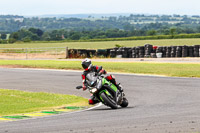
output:
M 0 59 L 58 59 L 66 58 L 66 47 L 0 48 Z

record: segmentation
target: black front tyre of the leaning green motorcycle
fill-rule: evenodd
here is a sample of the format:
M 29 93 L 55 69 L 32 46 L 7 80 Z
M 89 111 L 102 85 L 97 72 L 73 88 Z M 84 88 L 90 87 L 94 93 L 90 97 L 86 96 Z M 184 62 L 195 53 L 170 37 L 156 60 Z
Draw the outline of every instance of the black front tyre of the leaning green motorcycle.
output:
M 100 94 L 100 97 L 103 99 L 104 103 L 107 106 L 111 107 L 112 109 L 117 109 L 118 108 L 116 102 L 111 97 L 106 95 L 104 92 Z

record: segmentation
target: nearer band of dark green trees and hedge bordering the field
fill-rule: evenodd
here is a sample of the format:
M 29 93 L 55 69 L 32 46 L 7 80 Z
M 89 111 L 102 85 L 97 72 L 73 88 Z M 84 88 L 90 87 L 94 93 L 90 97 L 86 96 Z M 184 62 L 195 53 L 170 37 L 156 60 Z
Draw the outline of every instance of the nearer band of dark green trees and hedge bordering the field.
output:
M 21 29 L 17 32 L 1 34 L 0 43 L 15 43 L 16 41 L 117 41 L 117 40 L 145 40 L 145 39 L 175 39 L 175 38 L 200 38 L 200 33 L 178 34 L 176 28 L 168 29 L 164 34 L 158 34 L 156 30 L 119 29 L 95 30 L 95 31 L 68 31 L 53 30 L 42 31 L 37 28 Z M 142 36 L 139 36 L 142 35 Z M 7 39 L 8 38 L 8 39 Z

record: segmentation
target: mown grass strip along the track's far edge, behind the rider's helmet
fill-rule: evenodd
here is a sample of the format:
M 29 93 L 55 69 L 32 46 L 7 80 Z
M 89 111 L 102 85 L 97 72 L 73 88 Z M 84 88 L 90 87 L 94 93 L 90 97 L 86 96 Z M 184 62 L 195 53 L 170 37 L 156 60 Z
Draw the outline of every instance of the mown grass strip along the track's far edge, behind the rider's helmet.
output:
M 93 62 L 108 72 L 154 74 L 175 77 L 200 77 L 200 63 Z M 58 60 L 0 60 L 0 65 L 16 67 L 83 70 L 81 61 Z

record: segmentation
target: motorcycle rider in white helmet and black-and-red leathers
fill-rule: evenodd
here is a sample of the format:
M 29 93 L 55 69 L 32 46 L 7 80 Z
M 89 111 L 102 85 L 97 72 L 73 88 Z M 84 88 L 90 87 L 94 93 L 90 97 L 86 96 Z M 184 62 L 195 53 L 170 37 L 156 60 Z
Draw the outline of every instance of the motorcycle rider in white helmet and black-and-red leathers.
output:
M 83 82 L 83 90 L 85 91 L 87 89 L 87 83 L 86 83 L 86 75 L 90 72 L 97 72 L 98 70 L 98 66 L 93 66 L 92 65 L 92 62 L 90 59 L 86 58 L 82 61 L 82 67 L 85 69 L 85 71 L 83 72 L 82 74 L 82 82 Z M 102 74 L 107 74 L 107 72 L 102 69 L 99 73 L 102 73 Z M 123 89 L 122 89 L 122 86 L 120 84 L 117 84 L 116 81 L 115 81 L 115 77 L 110 75 L 110 76 L 107 76 L 106 79 L 108 81 L 110 81 L 111 83 L 113 83 L 117 89 L 123 93 Z M 123 93 L 124 94 L 124 93 Z M 99 101 L 97 99 L 95 99 L 95 97 L 92 95 L 91 98 L 88 100 L 89 104 L 96 104 L 98 103 Z

